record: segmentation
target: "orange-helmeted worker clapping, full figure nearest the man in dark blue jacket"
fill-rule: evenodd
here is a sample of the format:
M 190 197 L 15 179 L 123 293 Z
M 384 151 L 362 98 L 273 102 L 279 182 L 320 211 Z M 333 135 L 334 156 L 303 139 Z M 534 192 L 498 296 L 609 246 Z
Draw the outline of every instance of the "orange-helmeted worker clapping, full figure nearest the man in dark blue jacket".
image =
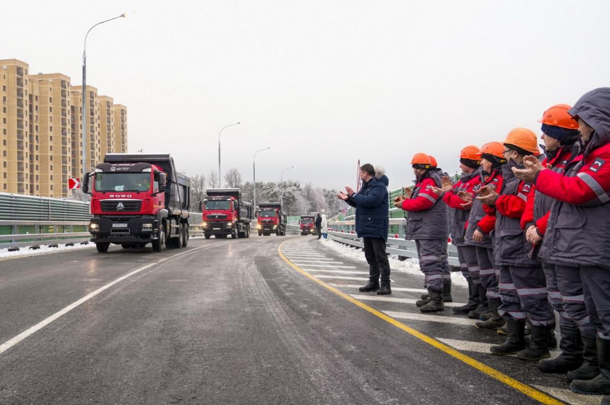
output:
M 442 185 L 442 176 L 431 170 L 426 153 L 415 153 L 411 160 L 415 187 L 405 189 L 406 195 L 394 200 L 394 205 L 409 212 L 405 239 L 415 241 L 420 269 L 425 275 L 428 300 L 418 301 L 420 311 L 443 311 L 443 261 L 447 260 L 449 221 L 447 205 L 434 192 Z

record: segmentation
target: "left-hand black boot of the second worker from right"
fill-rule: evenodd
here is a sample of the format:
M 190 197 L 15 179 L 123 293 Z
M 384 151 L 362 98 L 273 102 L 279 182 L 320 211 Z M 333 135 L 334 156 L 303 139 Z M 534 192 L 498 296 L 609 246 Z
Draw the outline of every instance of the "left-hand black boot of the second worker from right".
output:
M 543 373 L 567 373 L 583 364 L 583 340 L 575 325 L 559 325 L 561 354 L 551 360 L 540 360 L 538 368 Z

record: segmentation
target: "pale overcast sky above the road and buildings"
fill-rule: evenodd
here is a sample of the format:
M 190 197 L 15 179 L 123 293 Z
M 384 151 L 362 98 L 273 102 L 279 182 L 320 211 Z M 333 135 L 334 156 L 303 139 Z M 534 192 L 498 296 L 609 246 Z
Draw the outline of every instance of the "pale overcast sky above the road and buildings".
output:
M 7 1 L 0 58 L 125 104 L 129 152 L 179 171 L 342 188 L 356 162 L 411 184 L 415 152 L 458 169 L 467 144 L 608 86 L 608 1 Z M 10 16 L 7 18 L 7 16 Z

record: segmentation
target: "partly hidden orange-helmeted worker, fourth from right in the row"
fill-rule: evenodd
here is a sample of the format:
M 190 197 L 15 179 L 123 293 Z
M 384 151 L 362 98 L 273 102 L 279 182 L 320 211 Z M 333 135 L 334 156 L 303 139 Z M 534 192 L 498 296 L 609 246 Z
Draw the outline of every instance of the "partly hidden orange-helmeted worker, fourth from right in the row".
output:
M 473 188 L 474 192 L 477 192 L 481 186 L 500 190 L 502 167 L 506 164 L 503 150 L 504 146 L 499 142 L 486 143 L 481 147 L 478 153 L 481 159 L 481 181 Z M 495 225 L 495 207 L 484 205 L 480 200 L 473 200 L 474 197 L 474 195 L 465 196 L 465 200 L 472 204 L 472 208 L 468 216 L 464 241 L 476 247 L 476 262 L 481 284 L 478 288 L 479 306 L 468 312 L 468 317 L 481 318 L 482 322 L 475 324 L 479 329 L 495 329 L 504 325 L 504 320 L 498 314 L 500 268 L 494 263 L 491 235 Z

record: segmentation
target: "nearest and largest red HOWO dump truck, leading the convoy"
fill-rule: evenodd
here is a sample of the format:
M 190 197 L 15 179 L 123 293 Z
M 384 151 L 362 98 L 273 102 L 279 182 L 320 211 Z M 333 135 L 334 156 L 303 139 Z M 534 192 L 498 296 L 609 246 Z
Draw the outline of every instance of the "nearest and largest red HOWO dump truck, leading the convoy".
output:
M 179 174 L 170 155 L 107 153 L 85 176 L 91 194 L 91 241 L 98 252 L 110 244 L 155 252 L 188 244 L 190 178 Z

